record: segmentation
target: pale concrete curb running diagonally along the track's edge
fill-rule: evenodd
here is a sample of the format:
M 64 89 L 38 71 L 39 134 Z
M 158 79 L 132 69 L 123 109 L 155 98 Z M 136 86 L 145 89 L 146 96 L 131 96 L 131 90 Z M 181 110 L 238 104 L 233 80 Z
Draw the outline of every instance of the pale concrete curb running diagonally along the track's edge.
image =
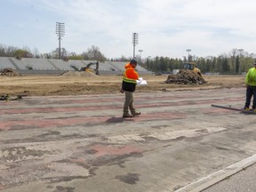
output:
M 244 170 L 246 167 L 251 166 L 256 163 L 256 154 L 237 162 L 236 164 L 231 164 L 228 167 L 218 171 L 213 172 L 212 174 L 200 179 L 196 180 L 189 185 L 179 188 L 175 190 L 175 192 L 200 192 L 205 188 L 209 188 L 212 185 L 220 182 L 221 180 L 225 180 L 229 176 L 236 174 L 236 172 L 240 172 Z

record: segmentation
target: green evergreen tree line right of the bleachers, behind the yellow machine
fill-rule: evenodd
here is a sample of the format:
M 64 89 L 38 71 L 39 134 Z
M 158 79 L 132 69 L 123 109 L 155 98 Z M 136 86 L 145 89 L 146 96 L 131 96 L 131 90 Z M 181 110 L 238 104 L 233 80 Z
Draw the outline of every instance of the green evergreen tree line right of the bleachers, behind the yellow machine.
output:
M 202 73 L 219 74 L 242 74 L 252 68 L 255 54 L 241 52 L 233 49 L 230 53 L 220 54 L 220 56 L 196 57 L 193 56 L 193 62 Z M 173 59 L 169 57 L 148 58 L 144 62 L 144 67 L 156 73 L 171 73 L 173 69 L 182 68 L 182 63 L 187 62 L 187 58 Z

